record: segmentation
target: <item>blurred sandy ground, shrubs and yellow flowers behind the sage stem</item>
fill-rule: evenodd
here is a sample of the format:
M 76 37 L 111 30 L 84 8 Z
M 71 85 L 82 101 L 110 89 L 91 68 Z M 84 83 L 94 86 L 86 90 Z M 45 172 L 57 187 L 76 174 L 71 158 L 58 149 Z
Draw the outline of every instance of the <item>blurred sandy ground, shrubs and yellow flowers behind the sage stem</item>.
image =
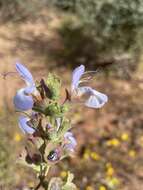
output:
M 73 110 L 77 155 L 51 175 L 71 170 L 81 190 L 141 190 L 143 1 L 0 0 L 0 26 L 0 72 L 13 71 L 18 58 L 36 79 L 53 71 L 68 87 L 79 64 L 102 71 L 92 85 L 109 103 Z M 11 103 L 19 84 L 0 80 L 0 186 L 9 190 L 35 182 L 15 162 L 25 145 Z

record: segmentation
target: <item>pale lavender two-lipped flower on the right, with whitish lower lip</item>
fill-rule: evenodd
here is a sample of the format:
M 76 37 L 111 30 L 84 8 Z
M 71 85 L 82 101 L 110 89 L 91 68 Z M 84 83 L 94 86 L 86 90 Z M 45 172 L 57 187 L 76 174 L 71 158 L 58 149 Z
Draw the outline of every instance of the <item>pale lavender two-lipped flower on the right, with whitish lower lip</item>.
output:
M 83 103 L 87 107 L 101 108 L 108 101 L 108 97 L 89 86 L 82 86 L 83 82 L 88 82 L 88 80 L 81 79 L 84 74 L 86 74 L 84 65 L 80 65 L 73 71 L 71 84 L 72 95 L 77 98 L 83 98 Z

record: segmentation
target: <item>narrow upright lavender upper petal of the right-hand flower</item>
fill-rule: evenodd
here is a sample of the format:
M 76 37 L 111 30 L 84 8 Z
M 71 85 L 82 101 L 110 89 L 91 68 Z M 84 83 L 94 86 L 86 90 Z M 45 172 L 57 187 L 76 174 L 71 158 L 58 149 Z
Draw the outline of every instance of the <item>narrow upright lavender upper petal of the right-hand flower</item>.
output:
M 71 89 L 72 91 L 78 87 L 79 84 L 79 80 L 81 78 L 81 76 L 83 75 L 85 71 L 85 67 L 84 65 L 80 65 L 79 67 L 77 67 L 73 73 L 72 73 L 72 84 L 71 84 Z

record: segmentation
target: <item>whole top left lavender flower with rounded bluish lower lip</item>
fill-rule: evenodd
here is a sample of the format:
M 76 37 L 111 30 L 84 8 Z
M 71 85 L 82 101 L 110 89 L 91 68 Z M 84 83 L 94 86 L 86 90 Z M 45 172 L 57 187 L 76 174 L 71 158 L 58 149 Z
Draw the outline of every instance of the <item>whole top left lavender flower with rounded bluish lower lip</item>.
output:
M 36 91 L 36 87 L 32 74 L 24 65 L 16 63 L 16 70 L 21 78 L 26 82 L 27 86 L 17 91 L 13 102 L 17 110 L 26 111 L 31 109 L 34 105 L 31 94 Z

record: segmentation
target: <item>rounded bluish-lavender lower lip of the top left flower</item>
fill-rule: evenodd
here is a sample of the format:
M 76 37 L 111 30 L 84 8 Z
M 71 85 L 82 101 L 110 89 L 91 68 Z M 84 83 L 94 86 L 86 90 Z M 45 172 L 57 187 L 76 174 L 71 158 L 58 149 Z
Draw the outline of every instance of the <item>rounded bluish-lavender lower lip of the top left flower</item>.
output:
M 13 103 L 17 110 L 26 111 L 32 109 L 34 101 L 32 96 L 27 96 L 25 89 L 22 88 L 16 93 Z

